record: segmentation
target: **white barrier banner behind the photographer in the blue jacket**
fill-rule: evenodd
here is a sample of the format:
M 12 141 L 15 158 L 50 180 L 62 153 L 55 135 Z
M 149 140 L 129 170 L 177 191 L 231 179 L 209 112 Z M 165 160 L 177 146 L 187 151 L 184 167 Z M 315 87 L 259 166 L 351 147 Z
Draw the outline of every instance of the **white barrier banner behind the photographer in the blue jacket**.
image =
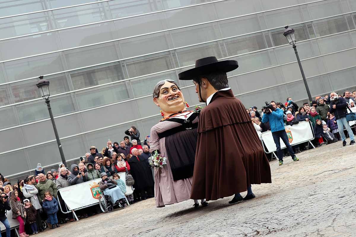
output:
M 299 144 L 305 141 L 312 140 L 314 138 L 314 133 L 312 131 L 311 124 L 306 121 L 299 122 L 293 126 L 286 126 L 286 133 L 288 136 L 288 141 L 290 145 Z M 268 149 L 268 152 L 276 151 L 277 147 L 274 144 L 273 136 L 271 131 L 266 131 L 262 133 L 262 141 Z M 279 139 L 281 143 L 281 149 L 286 148 L 282 139 Z

